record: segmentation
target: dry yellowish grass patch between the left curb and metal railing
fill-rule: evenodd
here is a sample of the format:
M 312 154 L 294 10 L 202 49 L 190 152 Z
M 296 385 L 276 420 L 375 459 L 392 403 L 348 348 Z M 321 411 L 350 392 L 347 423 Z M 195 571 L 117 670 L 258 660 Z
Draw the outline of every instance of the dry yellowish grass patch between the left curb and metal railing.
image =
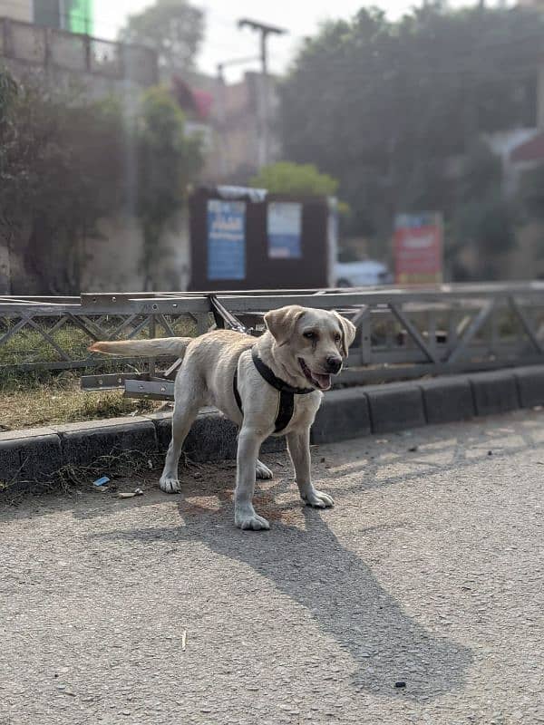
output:
M 77 372 L 22 374 L 0 380 L 0 430 L 151 412 L 160 403 L 123 398 L 122 392 L 83 392 Z

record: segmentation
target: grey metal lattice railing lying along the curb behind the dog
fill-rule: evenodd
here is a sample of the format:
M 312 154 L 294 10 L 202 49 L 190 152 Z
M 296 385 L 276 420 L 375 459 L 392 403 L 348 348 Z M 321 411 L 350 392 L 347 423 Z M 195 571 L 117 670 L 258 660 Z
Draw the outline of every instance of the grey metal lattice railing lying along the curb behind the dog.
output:
M 248 327 L 284 304 L 336 309 L 357 336 L 340 382 L 372 382 L 544 362 L 544 283 L 440 285 L 403 289 L 254 290 L 217 293 L 0 297 L 0 373 L 103 372 L 96 340 L 197 335 L 214 324 L 213 295 Z M 109 358 L 117 387 L 155 361 Z M 145 362 L 145 364 L 144 364 Z M 168 361 L 165 361 L 165 365 Z M 97 379 L 98 380 L 98 379 Z M 92 383 L 89 383 L 89 387 Z

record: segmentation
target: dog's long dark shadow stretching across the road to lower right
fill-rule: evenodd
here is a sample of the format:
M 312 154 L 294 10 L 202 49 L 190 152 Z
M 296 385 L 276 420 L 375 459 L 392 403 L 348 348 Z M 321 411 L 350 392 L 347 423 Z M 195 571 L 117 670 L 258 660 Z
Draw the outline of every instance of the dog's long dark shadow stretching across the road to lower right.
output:
M 202 493 L 195 487 L 187 496 L 198 499 Z M 251 566 L 306 607 L 317 627 L 349 652 L 356 663 L 357 690 L 398 696 L 395 683 L 405 682 L 405 696 L 429 700 L 461 688 L 471 663 L 470 650 L 426 631 L 404 612 L 371 567 L 342 546 L 325 523 L 326 513 L 304 507 L 305 527 L 292 526 L 287 515 L 276 516 L 279 520 L 269 532 L 228 530 L 218 525 L 232 520 L 232 491 L 216 488 L 213 493 L 221 502 L 219 509 L 180 502 L 184 526 L 179 529 L 165 530 L 163 536 L 159 528 L 115 536 L 146 542 L 164 537 L 177 542 L 197 540 L 213 552 Z M 265 516 L 282 508 L 273 503 L 273 494 L 271 488 L 263 500 L 256 498 L 257 510 Z M 283 507 L 283 514 L 289 511 L 293 512 L 292 504 Z

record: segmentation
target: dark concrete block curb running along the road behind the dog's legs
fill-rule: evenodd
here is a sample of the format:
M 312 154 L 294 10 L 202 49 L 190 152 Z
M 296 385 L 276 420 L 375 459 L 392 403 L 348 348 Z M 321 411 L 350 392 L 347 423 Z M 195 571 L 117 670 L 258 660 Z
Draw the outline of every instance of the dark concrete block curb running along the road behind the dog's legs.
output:
M 535 405 L 544 405 L 544 365 L 345 388 L 325 394 L 311 441 L 330 443 Z M 131 450 L 152 458 L 168 448 L 170 430 L 170 413 L 158 413 L 0 433 L 0 488 L 51 483 L 61 469 L 92 467 L 101 456 Z M 204 412 L 185 450 L 199 461 L 234 459 L 236 438 L 233 423 Z M 271 438 L 263 451 L 285 447 L 285 438 Z

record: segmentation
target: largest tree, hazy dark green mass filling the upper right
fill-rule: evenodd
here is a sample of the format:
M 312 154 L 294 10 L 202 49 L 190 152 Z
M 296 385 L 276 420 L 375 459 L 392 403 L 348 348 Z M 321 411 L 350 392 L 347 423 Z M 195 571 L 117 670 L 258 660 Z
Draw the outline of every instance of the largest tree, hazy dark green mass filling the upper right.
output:
M 452 218 L 452 161 L 482 132 L 534 125 L 543 30 L 527 8 L 435 5 L 324 24 L 280 88 L 287 159 L 339 179 L 358 234 L 387 238 L 413 209 Z

